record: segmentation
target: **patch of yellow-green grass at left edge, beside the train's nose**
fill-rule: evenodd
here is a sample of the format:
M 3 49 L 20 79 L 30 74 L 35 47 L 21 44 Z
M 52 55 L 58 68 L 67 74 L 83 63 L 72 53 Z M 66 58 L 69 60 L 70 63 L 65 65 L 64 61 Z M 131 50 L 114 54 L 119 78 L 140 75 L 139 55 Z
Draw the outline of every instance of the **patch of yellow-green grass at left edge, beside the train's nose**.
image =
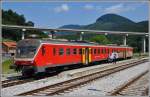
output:
M 8 73 L 12 73 L 12 72 L 15 72 L 13 69 L 10 69 L 10 65 L 13 64 L 13 60 L 12 59 L 9 59 L 9 60 L 6 60 L 2 63 L 2 73 L 3 74 L 8 74 Z

